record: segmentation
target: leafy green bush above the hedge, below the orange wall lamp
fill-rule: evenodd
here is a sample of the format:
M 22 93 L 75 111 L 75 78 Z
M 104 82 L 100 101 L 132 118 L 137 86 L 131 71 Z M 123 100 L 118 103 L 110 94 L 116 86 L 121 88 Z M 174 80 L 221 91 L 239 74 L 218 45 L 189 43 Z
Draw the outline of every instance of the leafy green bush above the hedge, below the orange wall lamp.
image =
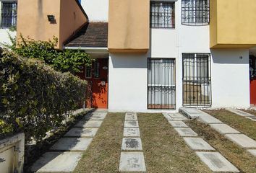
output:
M 82 68 L 90 66 L 93 58 L 82 50 L 56 50 L 58 43 L 56 37 L 49 41 L 38 41 L 30 37 L 22 37 L 16 41 L 9 35 L 12 45 L 5 44 L 4 47 L 16 52 L 18 55 L 26 58 L 38 58 L 57 71 L 80 73 Z

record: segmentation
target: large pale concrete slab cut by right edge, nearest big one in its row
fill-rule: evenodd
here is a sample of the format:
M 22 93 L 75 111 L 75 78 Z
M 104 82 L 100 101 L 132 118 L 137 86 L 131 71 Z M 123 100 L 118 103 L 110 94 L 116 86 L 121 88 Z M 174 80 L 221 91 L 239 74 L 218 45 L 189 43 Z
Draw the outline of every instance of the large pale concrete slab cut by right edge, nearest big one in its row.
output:
M 242 148 L 256 148 L 256 141 L 244 134 L 227 134 L 225 137 Z

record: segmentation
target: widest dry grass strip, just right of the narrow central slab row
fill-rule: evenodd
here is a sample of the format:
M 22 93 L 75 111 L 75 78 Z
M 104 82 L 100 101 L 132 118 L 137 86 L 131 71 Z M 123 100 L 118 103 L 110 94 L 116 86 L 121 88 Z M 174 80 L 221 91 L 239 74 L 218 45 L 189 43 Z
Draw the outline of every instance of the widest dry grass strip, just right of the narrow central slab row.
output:
M 210 172 L 162 114 L 138 114 L 147 172 Z

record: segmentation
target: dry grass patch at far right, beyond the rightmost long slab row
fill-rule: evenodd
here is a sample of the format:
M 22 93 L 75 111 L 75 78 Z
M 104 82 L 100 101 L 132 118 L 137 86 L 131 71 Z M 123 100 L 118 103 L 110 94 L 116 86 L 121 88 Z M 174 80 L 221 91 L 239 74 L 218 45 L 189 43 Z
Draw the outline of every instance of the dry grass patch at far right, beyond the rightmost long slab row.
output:
M 247 119 L 246 117 L 242 117 L 240 115 L 236 115 L 227 110 L 204 110 L 213 117 L 218 118 L 223 123 L 239 130 L 241 133 L 249 136 L 256 140 L 256 122 Z

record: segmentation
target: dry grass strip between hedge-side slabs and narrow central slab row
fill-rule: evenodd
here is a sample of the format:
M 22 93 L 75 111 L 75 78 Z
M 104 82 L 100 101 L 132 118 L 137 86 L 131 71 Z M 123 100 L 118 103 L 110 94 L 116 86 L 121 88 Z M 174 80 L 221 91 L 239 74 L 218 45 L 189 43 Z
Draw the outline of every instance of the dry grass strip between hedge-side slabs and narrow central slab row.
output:
M 108 113 L 74 172 L 118 172 L 123 124 L 123 113 Z

